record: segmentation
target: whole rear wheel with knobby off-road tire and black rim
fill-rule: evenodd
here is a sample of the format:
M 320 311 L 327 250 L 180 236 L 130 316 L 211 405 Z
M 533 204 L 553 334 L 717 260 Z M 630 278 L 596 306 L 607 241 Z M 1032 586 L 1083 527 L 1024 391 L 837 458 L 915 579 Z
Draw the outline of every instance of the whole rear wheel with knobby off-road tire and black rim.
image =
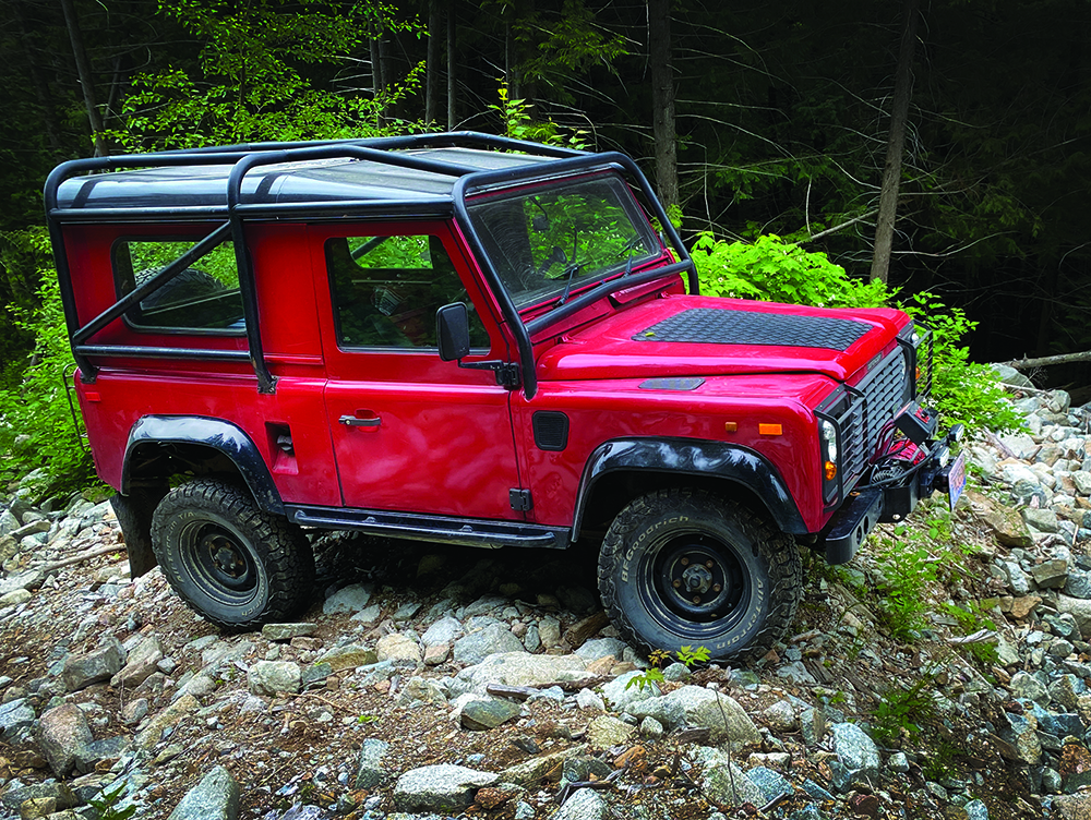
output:
M 171 588 L 225 629 L 286 619 L 314 583 L 314 554 L 302 530 L 221 481 L 167 493 L 152 516 L 152 547 Z

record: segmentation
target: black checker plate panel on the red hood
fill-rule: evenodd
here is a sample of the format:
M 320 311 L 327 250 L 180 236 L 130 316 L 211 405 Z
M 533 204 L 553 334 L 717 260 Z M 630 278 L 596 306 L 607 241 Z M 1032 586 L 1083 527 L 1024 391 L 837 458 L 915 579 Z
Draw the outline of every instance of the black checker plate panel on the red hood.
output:
M 871 329 L 871 325 L 847 318 L 694 308 L 642 330 L 633 339 L 706 345 L 777 345 L 843 351 Z

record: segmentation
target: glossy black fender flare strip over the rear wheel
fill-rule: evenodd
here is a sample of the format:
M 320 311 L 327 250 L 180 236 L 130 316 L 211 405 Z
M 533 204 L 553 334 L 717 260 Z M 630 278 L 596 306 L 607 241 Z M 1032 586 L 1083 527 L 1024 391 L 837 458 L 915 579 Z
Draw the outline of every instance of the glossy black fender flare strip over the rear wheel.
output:
M 223 419 L 203 415 L 144 415 L 129 431 L 125 461 L 121 469 L 121 492 L 133 484 L 133 457 L 146 445 L 197 444 L 227 456 L 239 469 L 257 506 L 283 516 L 284 501 L 257 446 L 241 427 Z

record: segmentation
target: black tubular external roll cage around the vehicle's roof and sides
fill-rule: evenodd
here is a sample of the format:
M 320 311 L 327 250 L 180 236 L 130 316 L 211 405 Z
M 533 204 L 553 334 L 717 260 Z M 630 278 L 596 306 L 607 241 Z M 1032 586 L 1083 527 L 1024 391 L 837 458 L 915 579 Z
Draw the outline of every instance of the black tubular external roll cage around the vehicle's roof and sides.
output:
M 427 156 L 418 156 L 410 152 L 424 149 L 473 149 L 491 152 L 494 156 L 499 152 L 518 152 L 523 157 L 521 161 L 503 162 L 502 167 L 494 167 L 488 164 L 468 164 L 457 161 L 445 161 Z M 515 158 L 514 156 L 512 157 Z M 387 198 L 346 198 L 319 196 L 315 201 L 293 201 L 280 202 L 242 202 L 242 188 L 247 174 L 253 169 L 262 166 L 275 166 L 289 162 L 303 162 L 308 160 L 323 159 L 345 159 L 345 160 L 367 160 L 380 166 L 396 169 L 405 169 L 408 172 L 435 174 L 451 179 L 451 191 L 447 195 L 440 196 L 406 196 L 404 200 L 391 201 Z M 506 166 L 506 167 L 503 167 Z M 679 258 L 678 268 L 688 269 L 690 289 L 697 292 L 696 269 L 686 252 L 685 246 L 674 227 L 671 225 L 666 212 L 656 198 L 647 179 L 640 172 L 636 164 L 627 156 L 614 152 L 603 154 L 592 154 L 573 148 L 563 148 L 550 145 L 540 145 L 521 140 L 480 134 L 476 132 L 449 132 L 442 134 L 413 134 L 407 136 L 377 137 L 367 140 L 338 140 L 323 142 L 302 143 L 255 143 L 244 145 L 228 145 L 206 148 L 193 148 L 183 150 L 166 150 L 153 154 L 131 154 L 121 156 L 94 157 L 91 159 L 75 159 L 63 162 L 52 170 L 46 180 L 45 206 L 46 220 L 49 226 L 50 240 L 53 245 L 53 253 L 57 258 L 57 273 L 60 279 L 61 301 L 64 306 L 64 318 L 68 323 L 69 333 L 72 338 L 72 351 L 76 363 L 80 365 L 82 377 L 85 381 L 94 381 L 97 367 L 88 360 L 88 355 L 147 355 L 149 352 L 144 348 L 128 348 L 124 346 L 88 346 L 85 342 L 98 330 L 121 316 L 127 310 L 143 299 L 148 292 L 160 287 L 169 279 L 173 278 L 185 269 L 192 262 L 195 249 L 184 254 L 160 270 L 152 280 L 145 282 L 132 293 L 127 294 L 110 309 L 87 324 L 80 326 L 75 308 L 75 298 L 72 289 L 71 267 L 68 262 L 68 252 L 61 236 L 61 224 L 70 219 L 80 221 L 99 220 L 129 220 L 137 213 L 134 207 L 87 207 L 93 192 L 98 182 L 109 180 L 111 174 L 99 174 L 87 178 L 80 192 L 73 196 L 70 207 L 62 207 L 59 201 L 61 184 L 79 173 L 91 173 L 95 171 L 120 171 L 123 169 L 148 169 L 148 168 L 197 168 L 197 167 L 220 167 L 226 174 L 218 174 L 211 183 L 225 185 L 221 194 L 223 205 L 214 205 L 205 202 L 196 205 L 168 204 L 166 206 L 141 208 L 139 213 L 144 216 L 158 216 L 160 218 L 201 218 L 204 221 L 223 220 L 226 224 L 213 231 L 199 243 L 204 248 L 209 242 L 221 241 L 230 231 L 235 243 L 239 269 L 239 290 L 242 297 L 243 313 L 245 316 L 247 339 L 250 347 L 249 359 L 253 364 L 257 376 L 259 389 L 262 393 L 273 393 L 276 389 L 276 379 L 269 373 L 262 347 L 261 327 L 257 315 L 256 286 L 254 281 L 254 270 L 247 249 L 245 234 L 243 230 L 243 217 L 259 215 L 283 216 L 290 213 L 293 216 L 321 217 L 332 214 L 345 215 L 372 210 L 376 207 L 384 209 L 384 213 L 397 213 L 406 216 L 420 213 L 435 213 L 436 208 L 453 209 L 454 216 L 468 237 L 473 250 L 477 252 L 482 263 L 483 272 L 492 286 L 504 318 L 508 322 L 519 349 L 519 359 L 523 362 L 523 385 L 529 397 L 532 397 L 537 389 L 537 379 L 533 367 L 533 351 L 530 343 L 530 335 L 527 327 L 519 318 L 515 304 L 507 297 L 505 289 L 500 284 L 500 277 L 494 269 L 492 262 L 483 252 L 481 240 L 469 220 L 466 210 L 466 197 L 468 194 L 479 191 L 482 188 L 515 184 L 524 180 L 540 178 L 543 173 L 549 176 L 571 174 L 583 171 L 590 171 L 602 168 L 614 168 L 626 172 L 644 193 L 648 204 L 651 206 L 655 216 L 658 218 L 664 232 L 670 239 L 674 253 Z M 81 196 L 83 197 L 81 200 Z M 451 210 L 447 210 L 451 213 Z M 672 266 L 674 267 L 674 266 Z M 659 272 L 662 273 L 661 270 Z M 578 305 L 578 300 L 573 300 L 573 309 Z M 193 353 L 202 358 L 239 359 L 239 351 L 168 351 L 171 354 Z M 151 353 L 156 354 L 156 353 Z M 167 353 L 164 353 L 165 355 Z

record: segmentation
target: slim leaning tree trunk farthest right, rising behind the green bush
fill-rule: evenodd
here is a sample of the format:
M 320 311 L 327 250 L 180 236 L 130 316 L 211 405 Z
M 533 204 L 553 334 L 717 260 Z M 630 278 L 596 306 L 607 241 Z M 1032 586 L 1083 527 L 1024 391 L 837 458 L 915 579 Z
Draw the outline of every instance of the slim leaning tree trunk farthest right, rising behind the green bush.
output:
M 916 17 L 920 0 L 904 0 L 901 21 L 901 48 L 894 82 L 894 110 L 887 137 L 887 158 L 883 166 L 883 189 L 879 192 L 879 217 L 875 225 L 875 255 L 872 258 L 872 281 L 887 281 L 890 275 L 890 251 L 894 248 L 894 224 L 898 216 L 898 184 L 901 182 L 901 155 L 906 145 L 906 120 L 909 98 L 913 92 L 913 51 L 916 48 Z

